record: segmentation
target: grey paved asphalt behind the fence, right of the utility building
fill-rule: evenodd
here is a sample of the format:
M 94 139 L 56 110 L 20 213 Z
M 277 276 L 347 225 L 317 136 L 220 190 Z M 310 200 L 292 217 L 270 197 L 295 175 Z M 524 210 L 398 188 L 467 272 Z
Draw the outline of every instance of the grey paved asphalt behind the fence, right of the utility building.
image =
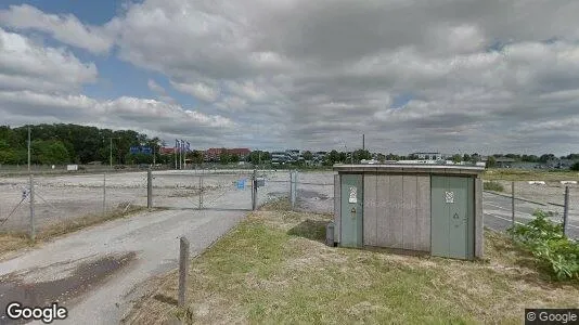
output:
M 512 224 L 511 198 L 491 193 L 483 194 L 483 212 L 485 213 L 485 226 L 494 231 L 505 231 Z M 536 209 L 543 211 L 554 211 L 558 216 L 553 217 L 553 221 L 561 222 L 563 208 L 552 205 L 538 205 L 524 200 L 515 200 L 515 221 L 525 223 L 532 220 L 532 212 Z M 578 211 L 569 211 L 567 221 L 567 236 L 579 239 L 579 216 Z

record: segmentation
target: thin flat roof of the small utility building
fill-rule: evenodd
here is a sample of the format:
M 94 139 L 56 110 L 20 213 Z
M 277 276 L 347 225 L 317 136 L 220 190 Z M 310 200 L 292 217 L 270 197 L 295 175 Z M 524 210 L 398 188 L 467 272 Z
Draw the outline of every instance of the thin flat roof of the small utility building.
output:
M 376 165 L 334 165 L 337 172 L 397 172 L 397 173 L 452 173 L 480 174 L 481 166 L 438 165 L 438 164 L 376 164 Z

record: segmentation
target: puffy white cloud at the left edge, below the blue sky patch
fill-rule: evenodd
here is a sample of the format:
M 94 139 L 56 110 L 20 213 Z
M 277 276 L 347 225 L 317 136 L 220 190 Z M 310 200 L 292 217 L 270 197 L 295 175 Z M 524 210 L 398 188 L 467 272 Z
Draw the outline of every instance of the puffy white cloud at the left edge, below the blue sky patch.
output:
M 0 28 L 0 90 L 77 91 L 97 81 L 93 63 Z

